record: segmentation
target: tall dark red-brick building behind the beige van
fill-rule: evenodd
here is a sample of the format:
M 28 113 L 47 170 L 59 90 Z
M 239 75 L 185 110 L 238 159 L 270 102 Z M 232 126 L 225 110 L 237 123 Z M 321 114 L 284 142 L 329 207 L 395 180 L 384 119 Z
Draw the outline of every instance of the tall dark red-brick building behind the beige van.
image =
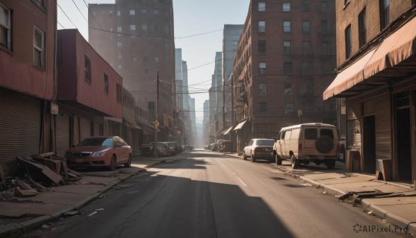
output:
M 284 126 L 336 124 L 336 101 L 322 101 L 336 68 L 335 33 L 333 0 L 250 2 L 232 72 L 238 151 Z

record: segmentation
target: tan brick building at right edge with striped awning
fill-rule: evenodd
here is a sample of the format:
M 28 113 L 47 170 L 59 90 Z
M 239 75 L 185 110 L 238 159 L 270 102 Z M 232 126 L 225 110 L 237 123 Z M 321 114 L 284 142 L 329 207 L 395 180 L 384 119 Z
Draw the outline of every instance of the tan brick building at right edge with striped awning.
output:
M 324 99 L 346 98 L 352 171 L 416 180 L 415 1 L 337 1 L 337 71 Z M 388 174 L 391 176 L 388 176 Z

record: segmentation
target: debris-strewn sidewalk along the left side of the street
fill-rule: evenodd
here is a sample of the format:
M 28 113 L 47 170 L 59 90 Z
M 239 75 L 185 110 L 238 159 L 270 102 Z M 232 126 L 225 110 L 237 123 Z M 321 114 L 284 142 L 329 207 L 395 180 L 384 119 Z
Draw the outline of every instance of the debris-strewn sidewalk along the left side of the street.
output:
M 104 196 L 119 182 L 127 180 L 155 164 L 171 158 L 132 158 L 129 168 L 118 167 L 115 171 L 96 171 L 83 174 L 76 185 L 53 187 L 28 198 L 13 197 L 0 201 L 0 237 L 18 237 L 24 232 L 59 219 L 73 210 L 79 210 L 90 201 Z

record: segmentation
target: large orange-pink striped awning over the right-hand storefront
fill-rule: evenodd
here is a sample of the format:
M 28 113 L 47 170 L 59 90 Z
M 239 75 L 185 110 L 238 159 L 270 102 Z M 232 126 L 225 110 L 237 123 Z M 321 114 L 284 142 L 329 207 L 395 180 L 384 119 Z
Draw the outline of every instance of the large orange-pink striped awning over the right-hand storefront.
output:
M 340 72 L 324 91 L 323 99 L 359 94 L 371 90 L 374 85 L 386 84 L 389 79 L 399 78 L 409 74 L 410 71 L 415 71 L 414 59 L 409 60 L 407 65 L 404 64 L 405 60 L 408 61 L 408 58 L 416 56 L 415 29 L 416 17 Z

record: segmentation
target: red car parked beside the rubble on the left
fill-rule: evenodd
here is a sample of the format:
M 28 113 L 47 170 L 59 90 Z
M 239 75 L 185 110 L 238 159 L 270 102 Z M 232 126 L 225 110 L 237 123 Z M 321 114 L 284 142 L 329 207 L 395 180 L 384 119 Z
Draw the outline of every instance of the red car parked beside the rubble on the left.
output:
M 130 167 L 132 148 L 121 137 L 90 137 L 65 151 L 69 167 L 107 167 L 116 169 L 118 164 Z

